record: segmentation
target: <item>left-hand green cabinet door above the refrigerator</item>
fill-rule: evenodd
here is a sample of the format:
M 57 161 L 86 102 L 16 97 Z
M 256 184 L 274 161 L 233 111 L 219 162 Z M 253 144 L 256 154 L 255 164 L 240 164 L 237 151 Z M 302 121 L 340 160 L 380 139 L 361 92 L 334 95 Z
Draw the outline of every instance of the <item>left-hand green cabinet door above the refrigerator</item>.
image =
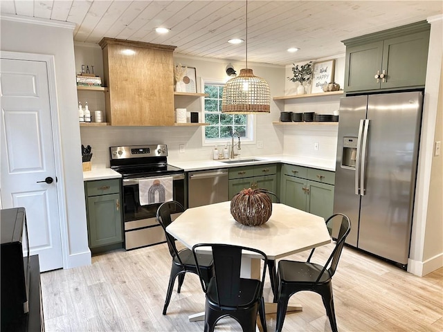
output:
M 374 78 L 381 71 L 383 42 L 374 42 L 346 48 L 345 91 L 379 89 Z

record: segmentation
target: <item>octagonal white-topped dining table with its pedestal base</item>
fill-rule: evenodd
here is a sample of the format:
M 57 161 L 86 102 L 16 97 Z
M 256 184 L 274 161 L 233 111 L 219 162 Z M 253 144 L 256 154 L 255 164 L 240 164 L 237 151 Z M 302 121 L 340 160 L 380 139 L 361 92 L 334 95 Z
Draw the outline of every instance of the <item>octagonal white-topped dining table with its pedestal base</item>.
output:
M 271 218 L 260 226 L 237 223 L 227 201 L 190 208 L 166 231 L 188 248 L 197 243 L 224 243 L 257 248 L 269 259 L 280 259 L 331 242 L 325 219 L 280 203 L 273 203 Z M 260 259 L 244 255 L 242 276 L 260 279 Z M 301 309 L 301 306 L 288 307 L 288 311 Z M 276 306 L 266 304 L 265 310 L 275 313 Z M 190 321 L 199 319 L 201 314 L 190 316 Z

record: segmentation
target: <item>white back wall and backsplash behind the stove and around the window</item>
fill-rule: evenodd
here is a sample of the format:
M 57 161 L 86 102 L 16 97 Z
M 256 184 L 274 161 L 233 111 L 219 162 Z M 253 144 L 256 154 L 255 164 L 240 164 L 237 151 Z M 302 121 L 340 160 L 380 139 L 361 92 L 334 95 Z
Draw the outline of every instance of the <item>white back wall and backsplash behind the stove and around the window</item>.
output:
M 102 51 L 100 46 L 93 44 L 75 43 L 75 69 L 80 72 L 82 64 L 90 64 L 100 75 L 102 71 Z M 228 61 L 215 59 L 199 59 L 183 57 L 174 54 L 174 64 L 196 68 L 197 92 L 201 92 L 201 77 L 206 80 L 228 79 L 226 66 Z M 232 62 L 237 73 L 244 64 Z M 263 77 L 271 89 L 272 95 L 284 93 L 283 66 L 249 64 L 255 75 Z M 98 100 L 100 99 L 101 100 Z M 79 100 L 84 104 L 88 100 L 89 109 L 95 110 L 104 107 L 104 96 L 100 93 L 79 93 Z M 193 111 L 200 111 L 199 101 L 192 104 Z M 189 109 L 188 109 L 189 111 Z M 259 156 L 266 154 L 282 154 L 283 137 L 280 128 L 273 126 L 280 116 L 278 104 L 271 100 L 271 113 L 256 115 L 256 141 L 263 142 L 263 148 L 258 149 L 256 144 L 242 145 L 240 156 Z M 200 114 L 200 121 L 203 118 Z M 109 147 L 113 145 L 136 145 L 147 143 L 162 143 L 168 145 L 168 160 L 205 160 L 212 158 L 212 146 L 202 145 L 202 131 L 204 127 L 81 127 L 82 144 L 93 147 L 92 168 L 109 167 Z M 185 145 L 185 153 L 179 153 L 179 145 Z

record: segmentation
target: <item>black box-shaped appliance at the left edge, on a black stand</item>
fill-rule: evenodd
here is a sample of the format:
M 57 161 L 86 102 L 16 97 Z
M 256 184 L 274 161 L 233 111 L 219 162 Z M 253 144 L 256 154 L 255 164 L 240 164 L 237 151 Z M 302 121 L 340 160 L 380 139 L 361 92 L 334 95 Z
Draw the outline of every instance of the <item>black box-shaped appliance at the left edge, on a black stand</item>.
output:
M 30 257 L 25 208 L 3 209 L 1 224 L 1 326 L 28 313 Z

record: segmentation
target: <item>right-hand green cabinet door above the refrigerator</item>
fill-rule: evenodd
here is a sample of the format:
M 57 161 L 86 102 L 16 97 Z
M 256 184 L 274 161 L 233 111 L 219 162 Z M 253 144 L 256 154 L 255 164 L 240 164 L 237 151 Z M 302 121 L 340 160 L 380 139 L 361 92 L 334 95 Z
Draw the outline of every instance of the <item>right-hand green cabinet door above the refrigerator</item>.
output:
M 424 86 L 428 47 L 428 31 L 385 40 L 381 68 L 386 80 L 381 80 L 381 88 Z

